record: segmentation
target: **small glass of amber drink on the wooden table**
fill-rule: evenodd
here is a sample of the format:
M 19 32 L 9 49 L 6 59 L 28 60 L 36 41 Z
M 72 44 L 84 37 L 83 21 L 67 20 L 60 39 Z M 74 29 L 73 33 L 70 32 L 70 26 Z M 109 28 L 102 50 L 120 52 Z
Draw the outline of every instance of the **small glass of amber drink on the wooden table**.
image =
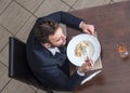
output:
M 125 43 L 120 43 L 117 45 L 117 51 L 121 58 L 127 58 L 129 56 L 127 45 Z

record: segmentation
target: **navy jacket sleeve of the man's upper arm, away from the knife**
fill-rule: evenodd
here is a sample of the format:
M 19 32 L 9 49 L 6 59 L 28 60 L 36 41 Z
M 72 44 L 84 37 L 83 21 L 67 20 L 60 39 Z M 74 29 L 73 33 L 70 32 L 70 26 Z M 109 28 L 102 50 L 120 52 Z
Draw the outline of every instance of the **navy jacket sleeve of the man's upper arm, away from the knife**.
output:
M 40 17 L 40 18 L 38 18 L 38 22 L 42 21 L 42 19 L 53 19 L 57 23 L 65 24 L 66 26 L 69 26 L 69 27 L 73 27 L 76 29 L 79 29 L 79 24 L 81 21 L 83 21 L 83 19 L 81 19 L 81 18 L 79 18 L 70 13 L 63 12 L 63 11 L 52 13 L 52 14 L 47 15 L 44 17 Z

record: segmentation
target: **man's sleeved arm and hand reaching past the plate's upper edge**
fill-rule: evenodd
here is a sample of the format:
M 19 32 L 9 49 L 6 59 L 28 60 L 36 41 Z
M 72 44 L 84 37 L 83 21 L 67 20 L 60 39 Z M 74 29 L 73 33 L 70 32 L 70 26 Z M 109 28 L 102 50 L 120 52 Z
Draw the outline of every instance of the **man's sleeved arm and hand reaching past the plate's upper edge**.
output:
M 83 32 L 87 32 L 89 35 L 94 35 L 94 26 L 90 24 L 86 24 L 82 18 L 79 18 L 70 13 L 67 12 L 55 12 L 50 15 L 47 15 L 44 17 L 38 18 L 38 22 L 42 19 L 53 19 L 57 23 L 65 24 L 66 26 L 81 29 Z

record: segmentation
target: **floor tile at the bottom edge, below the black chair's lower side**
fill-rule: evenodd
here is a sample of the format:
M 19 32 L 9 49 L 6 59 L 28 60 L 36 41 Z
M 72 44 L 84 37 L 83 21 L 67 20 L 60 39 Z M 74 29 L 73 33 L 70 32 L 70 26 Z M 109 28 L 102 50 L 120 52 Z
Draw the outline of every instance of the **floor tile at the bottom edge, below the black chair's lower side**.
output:
M 35 93 L 35 91 L 26 83 L 12 79 L 1 93 Z

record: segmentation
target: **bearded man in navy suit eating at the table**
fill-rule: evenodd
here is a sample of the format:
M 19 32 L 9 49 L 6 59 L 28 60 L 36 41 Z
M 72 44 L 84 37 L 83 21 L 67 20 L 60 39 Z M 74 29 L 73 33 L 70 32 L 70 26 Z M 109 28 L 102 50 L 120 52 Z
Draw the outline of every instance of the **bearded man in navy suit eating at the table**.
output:
M 93 25 L 65 12 L 52 13 L 37 19 L 27 40 L 28 64 L 38 81 L 48 88 L 73 90 L 86 76 L 86 69 L 93 66 L 91 59 L 84 61 L 74 75 L 69 76 L 66 56 L 66 36 L 58 24 L 65 24 L 82 32 L 93 35 Z

